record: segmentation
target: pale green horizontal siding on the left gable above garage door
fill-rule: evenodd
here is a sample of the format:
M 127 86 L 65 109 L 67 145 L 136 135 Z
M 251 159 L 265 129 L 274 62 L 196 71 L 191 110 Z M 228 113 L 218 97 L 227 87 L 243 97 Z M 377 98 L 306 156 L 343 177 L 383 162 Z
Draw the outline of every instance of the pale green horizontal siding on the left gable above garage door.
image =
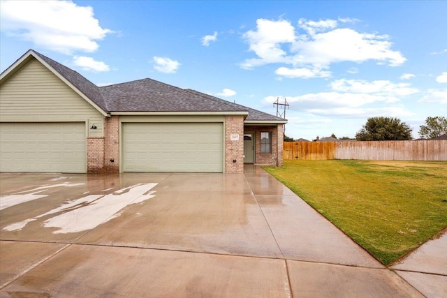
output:
M 0 121 L 84 121 L 90 135 L 103 136 L 103 115 L 71 87 L 31 59 L 0 86 Z

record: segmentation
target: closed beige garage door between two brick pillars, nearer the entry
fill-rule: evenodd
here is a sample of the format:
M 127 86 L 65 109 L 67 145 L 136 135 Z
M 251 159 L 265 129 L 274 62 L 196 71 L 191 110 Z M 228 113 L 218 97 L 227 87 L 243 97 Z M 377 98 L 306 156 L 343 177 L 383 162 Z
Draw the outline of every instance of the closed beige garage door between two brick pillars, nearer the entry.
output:
M 124 172 L 223 172 L 222 123 L 124 123 Z

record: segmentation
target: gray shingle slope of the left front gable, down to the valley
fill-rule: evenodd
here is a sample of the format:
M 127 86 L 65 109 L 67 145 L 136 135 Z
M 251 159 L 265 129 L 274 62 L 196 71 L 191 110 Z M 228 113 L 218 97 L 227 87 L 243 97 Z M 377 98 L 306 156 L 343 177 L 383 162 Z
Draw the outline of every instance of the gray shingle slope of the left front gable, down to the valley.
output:
M 33 51 L 38 57 L 43 59 L 47 64 L 49 64 L 54 70 L 60 73 L 63 77 L 65 77 L 68 82 L 73 84 L 76 89 L 81 91 L 85 96 L 87 96 L 91 101 L 96 103 L 102 110 L 107 111 L 107 107 L 103 100 L 103 96 L 101 96 L 101 92 L 98 87 L 87 80 L 85 77 L 77 73 L 75 70 L 68 68 L 53 59 L 45 57 L 43 54 Z

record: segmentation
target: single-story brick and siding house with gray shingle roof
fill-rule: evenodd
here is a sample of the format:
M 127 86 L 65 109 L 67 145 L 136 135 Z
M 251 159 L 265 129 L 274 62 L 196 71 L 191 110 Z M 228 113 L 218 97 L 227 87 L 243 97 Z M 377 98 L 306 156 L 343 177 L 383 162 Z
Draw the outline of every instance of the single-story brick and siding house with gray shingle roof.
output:
M 0 172 L 282 165 L 286 120 L 151 79 L 98 87 L 29 50 L 0 75 Z

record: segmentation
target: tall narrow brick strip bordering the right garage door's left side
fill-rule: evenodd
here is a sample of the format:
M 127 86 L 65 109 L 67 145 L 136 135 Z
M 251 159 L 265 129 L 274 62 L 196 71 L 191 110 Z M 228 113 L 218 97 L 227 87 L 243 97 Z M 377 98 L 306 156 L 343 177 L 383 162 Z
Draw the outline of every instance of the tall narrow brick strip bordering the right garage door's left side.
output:
M 119 116 L 104 119 L 104 172 L 119 172 Z

